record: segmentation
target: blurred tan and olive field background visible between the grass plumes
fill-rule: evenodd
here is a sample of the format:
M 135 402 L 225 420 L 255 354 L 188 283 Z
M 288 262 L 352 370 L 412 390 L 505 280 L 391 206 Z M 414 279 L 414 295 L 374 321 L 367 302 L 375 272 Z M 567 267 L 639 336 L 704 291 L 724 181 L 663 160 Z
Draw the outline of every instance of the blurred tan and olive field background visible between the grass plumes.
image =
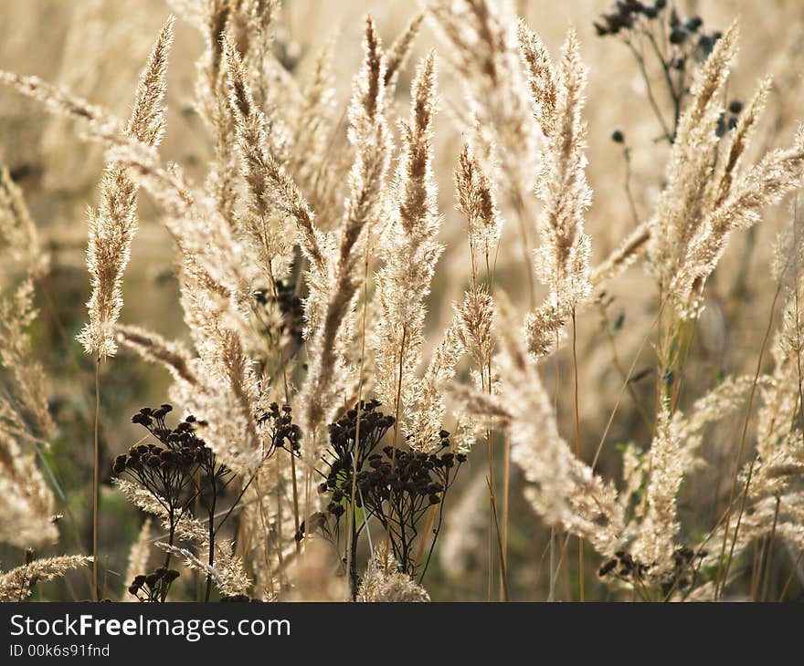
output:
M 304 76 L 323 40 L 339 32 L 334 68 L 337 75 L 338 107 L 343 108 L 360 59 L 362 18 L 370 12 L 386 43 L 407 26 L 417 11 L 416 3 L 372 0 L 284 0 L 278 55 L 293 74 Z M 520 16 L 543 38 L 554 57 L 573 26 L 590 68 L 587 91 L 587 177 L 594 202 L 587 213 L 587 233 L 593 242 L 593 263 L 619 245 L 653 210 L 665 170 L 668 146 L 658 139 L 660 129 L 651 112 L 640 73 L 629 51 L 618 40 L 596 35 L 593 22 L 610 9 L 608 0 L 528 1 L 516 3 Z M 775 86 L 762 128 L 753 146 L 755 154 L 769 147 L 788 145 L 799 120 L 804 119 L 800 76 L 804 71 L 802 36 L 804 5 L 800 0 L 708 0 L 676 3 L 685 16 L 701 16 L 709 30 L 723 30 L 735 18 L 741 25 L 741 48 L 729 84 L 733 99 L 749 98 L 766 74 Z M 55 81 L 91 102 L 108 107 L 116 115 L 128 115 L 137 76 L 153 38 L 170 13 L 164 0 L 136 3 L 117 0 L 0 0 L 0 68 L 34 74 Z M 425 24 L 418 36 L 413 60 L 437 47 Z M 201 182 L 210 154 L 210 142 L 192 107 L 195 63 L 201 53 L 196 29 L 176 25 L 170 57 L 168 130 L 161 148 L 166 160 L 181 163 L 187 174 Z M 408 64 L 397 88 L 397 112 L 407 112 Z M 652 73 L 658 76 L 658 72 Z M 429 299 L 428 342 L 439 338 L 451 317 L 451 304 L 469 284 L 466 224 L 454 210 L 452 172 L 461 149 L 460 133 L 450 118 L 449 106 L 460 105 L 459 82 L 442 58 L 439 96 L 443 103 L 436 124 L 437 178 L 440 210 L 444 215 L 442 256 Z M 668 103 L 660 99 L 661 104 Z M 611 140 L 620 130 L 625 143 Z M 629 187 L 635 211 L 625 194 L 629 150 Z M 35 324 L 35 349 L 48 371 L 51 410 L 58 423 L 58 438 L 52 442 L 51 463 L 77 524 L 62 523 L 62 538 L 54 552 L 89 552 L 91 543 L 90 487 L 93 371 L 75 336 L 86 317 L 85 301 L 90 286 L 84 263 L 86 208 L 97 202 L 97 187 L 103 167 L 102 151 L 79 137 L 70 120 L 45 114 L 36 103 L 0 88 L 0 163 L 22 187 L 30 211 L 51 253 L 51 271 L 37 293 L 40 317 Z M 501 201 L 506 227 L 498 261 L 498 284 L 520 304 L 526 302 L 522 270 L 521 236 L 508 204 Z M 538 205 L 526 202 L 535 219 Z M 636 213 L 636 214 L 635 214 Z M 752 372 L 756 351 L 767 325 L 768 301 L 775 291 L 767 265 L 773 243 L 782 225 L 789 221 L 788 205 L 767 211 L 763 222 L 750 233 L 735 235 L 707 291 L 704 316 L 697 323 L 693 344 L 694 362 L 688 364 L 682 408 L 709 390 L 725 374 Z M 534 228 L 530 246 L 535 245 Z M 0 265 L 0 288 L 13 285 L 15 266 Z M 146 195 L 141 197 L 140 231 L 132 247 L 126 271 L 122 321 L 153 328 L 166 338 L 186 338 L 173 272 L 172 245 L 159 224 L 158 212 Z M 649 333 L 656 315 L 656 294 L 642 265 L 620 277 L 600 306 L 587 307 L 579 317 L 579 364 L 581 432 L 584 457 L 591 460 L 617 401 L 622 377 L 614 362 L 628 368 Z M 616 350 L 616 354 L 615 354 Z M 636 373 L 652 371 L 650 345 L 643 349 Z M 543 369 L 549 390 L 557 395 L 562 432 L 573 432 L 571 410 L 571 365 L 566 349 Z M 618 445 L 636 442 L 646 446 L 651 432 L 640 419 L 636 401 L 652 410 L 652 384 L 647 379 L 633 383 L 631 396 L 619 406 L 608 432 L 598 469 L 619 483 Z M 2 376 L 0 376 L 2 379 Z M 168 377 L 164 371 L 121 353 L 104 371 L 104 406 L 101 440 L 107 463 L 117 453 L 139 440 L 143 432 L 132 425 L 131 415 L 143 405 L 165 400 Z M 557 382 L 557 383 L 556 383 Z M 652 413 L 652 411 L 651 411 Z M 693 541 L 705 534 L 722 507 L 731 483 L 730 464 L 739 423 L 725 422 L 709 432 L 704 457 L 709 462 L 687 480 L 682 491 L 685 536 Z M 484 600 L 489 585 L 488 494 L 484 480 L 484 452 L 461 470 L 450 496 L 448 526 L 441 535 L 437 555 L 425 585 L 434 600 Z M 502 455 L 498 452 L 498 455 Z M 103 538 L 101 551 L 108 556 L 107 590 L 119 598 L 128 581 L 122 580 L 129 547 L 136 538 L 142 516 L 108 484 L 103 488 Z M 498 486 L 499 487 L 499 486 Z M 543 600 L 547 588 L 546 544 L 549 531 L 541 525 L 520 492 L 514 471 L 511 486 L 509 571 L 514 600 Z M 460 517 L 459 517 L 460 516 Z M 450 524 L 455 529 L 450 529 Z M 577 551 L 567 549 L 567 567 L 576 567 Z M 778 555 L 778 576 L 785 577 L 796 554 L 783 549 Z M 607 588 L 594 575 L 599 566 L 589 551 L 587 598 L 606 598 Z M 0 547 L 0 567 L 17 566 L 20 552 Z M 564 567 L 565 570 L 567 567 Z M 82 598 L 82 576 L 73 574 L 69 588 L 52 584 L 41 594 L 57 598 Z M 775 574 L 776 575 L 776 574 Z M 492 576 L 492 578 L 494 578 Z M 496 582 L 494 582 L 496 586 Z M 800 596 L 796 581 L 788 598 Z M 559 580 L 559 598 L 575 598 L 568 578 Z

